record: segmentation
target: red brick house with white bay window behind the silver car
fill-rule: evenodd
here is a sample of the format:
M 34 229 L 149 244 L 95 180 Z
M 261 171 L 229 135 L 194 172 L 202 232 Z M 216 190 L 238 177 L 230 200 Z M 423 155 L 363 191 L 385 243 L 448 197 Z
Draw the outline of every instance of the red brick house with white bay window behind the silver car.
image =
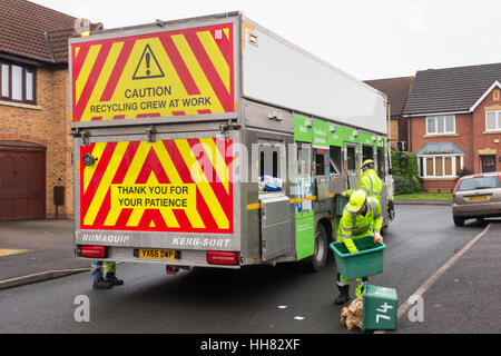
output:
M 501 63 L 418 71 L 403 111 L 424 190 L 501 170 Z

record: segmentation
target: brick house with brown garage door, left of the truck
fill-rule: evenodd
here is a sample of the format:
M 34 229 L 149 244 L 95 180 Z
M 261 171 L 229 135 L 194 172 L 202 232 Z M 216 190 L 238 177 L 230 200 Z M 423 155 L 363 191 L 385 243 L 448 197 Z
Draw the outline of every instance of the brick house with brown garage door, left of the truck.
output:
M 76 18 L 0 1 L 0 221 L 72 215 L 68 38 Z

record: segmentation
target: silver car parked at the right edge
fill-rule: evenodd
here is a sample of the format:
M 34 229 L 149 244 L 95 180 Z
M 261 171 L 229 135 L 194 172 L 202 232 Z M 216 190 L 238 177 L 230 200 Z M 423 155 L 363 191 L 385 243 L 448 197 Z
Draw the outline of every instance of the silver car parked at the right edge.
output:
M 501 217 L 501 172 L 461 177 L 452 192 L 452 217 L 455 226 L 466 219 Z

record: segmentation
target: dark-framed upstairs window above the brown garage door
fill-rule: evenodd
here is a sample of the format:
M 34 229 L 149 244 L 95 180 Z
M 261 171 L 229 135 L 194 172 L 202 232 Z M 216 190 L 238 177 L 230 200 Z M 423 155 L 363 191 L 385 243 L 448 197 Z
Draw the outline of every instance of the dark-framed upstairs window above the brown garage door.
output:
M 0 62 L 0 98 L 35 103 L 35 69 Z

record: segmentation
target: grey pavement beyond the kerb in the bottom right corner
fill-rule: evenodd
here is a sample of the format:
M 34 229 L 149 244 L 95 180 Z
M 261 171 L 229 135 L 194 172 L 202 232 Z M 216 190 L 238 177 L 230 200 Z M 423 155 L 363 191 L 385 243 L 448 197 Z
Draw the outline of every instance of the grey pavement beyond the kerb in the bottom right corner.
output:
M 418 308 L 409 309 L 394 333 L 501 333 L 501 221 L 492 221 L 488 231 L 458 251 L 458 260 L 424 288 L 422 319 Z

